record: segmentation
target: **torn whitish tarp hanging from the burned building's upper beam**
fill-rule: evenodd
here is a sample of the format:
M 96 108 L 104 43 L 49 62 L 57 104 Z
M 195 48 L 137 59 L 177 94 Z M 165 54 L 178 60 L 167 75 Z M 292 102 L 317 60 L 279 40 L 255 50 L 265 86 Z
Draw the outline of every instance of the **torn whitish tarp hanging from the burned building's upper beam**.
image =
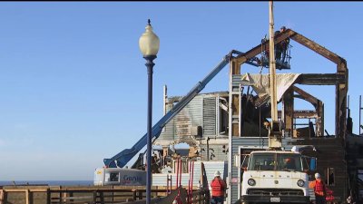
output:
M 295 83 L 300 73 L 278 73 L 276 74 L 277 100 Z M 241 76 L 242 85 L 250 85 L 264 102 L 270 102 L 270 74 L 250 74 Z

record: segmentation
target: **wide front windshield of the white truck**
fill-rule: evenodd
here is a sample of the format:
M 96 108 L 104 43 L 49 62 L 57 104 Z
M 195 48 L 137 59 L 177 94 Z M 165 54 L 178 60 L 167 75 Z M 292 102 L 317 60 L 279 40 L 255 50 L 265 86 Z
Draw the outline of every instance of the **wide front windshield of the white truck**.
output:
M 247 170 L 302 171 L 301 155 L 283 152 L 252 153 Z

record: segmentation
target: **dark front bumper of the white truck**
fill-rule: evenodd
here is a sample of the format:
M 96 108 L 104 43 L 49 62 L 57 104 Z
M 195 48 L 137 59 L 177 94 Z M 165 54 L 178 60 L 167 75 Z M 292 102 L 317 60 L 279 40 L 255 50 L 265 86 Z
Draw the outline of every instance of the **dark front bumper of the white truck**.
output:
M 259 196 L 246 195 L 239 203 L 309 203 L 309 196 Z

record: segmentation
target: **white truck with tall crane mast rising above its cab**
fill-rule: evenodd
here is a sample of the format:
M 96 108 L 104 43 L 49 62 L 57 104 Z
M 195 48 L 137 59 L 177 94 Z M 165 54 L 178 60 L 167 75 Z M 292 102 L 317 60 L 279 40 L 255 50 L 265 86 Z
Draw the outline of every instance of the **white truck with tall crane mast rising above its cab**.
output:
M 274 50 L 273 11 L 270 1 L 270 51 Z M 303 156 L 298 148 L 283 151 L 282 127 L 278 121 L 276 61 L 270 52 L 269 150 L 251 151 L 247 168 L 242 168 L 240 202 L 245 203 L 309 203 L 309 176 L 316 159 Z M 245 158 L 246 160 L 246 158 Z M 243 163 L 241 166 L 245 166 Z

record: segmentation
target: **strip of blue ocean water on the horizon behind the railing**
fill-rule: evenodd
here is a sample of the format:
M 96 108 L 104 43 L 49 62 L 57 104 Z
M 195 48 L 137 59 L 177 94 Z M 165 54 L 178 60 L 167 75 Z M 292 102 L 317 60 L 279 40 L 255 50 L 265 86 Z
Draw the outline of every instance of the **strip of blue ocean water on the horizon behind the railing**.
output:
M 93 186 L 93 180 L 0 180 L 0 186 L 9 185 Z

